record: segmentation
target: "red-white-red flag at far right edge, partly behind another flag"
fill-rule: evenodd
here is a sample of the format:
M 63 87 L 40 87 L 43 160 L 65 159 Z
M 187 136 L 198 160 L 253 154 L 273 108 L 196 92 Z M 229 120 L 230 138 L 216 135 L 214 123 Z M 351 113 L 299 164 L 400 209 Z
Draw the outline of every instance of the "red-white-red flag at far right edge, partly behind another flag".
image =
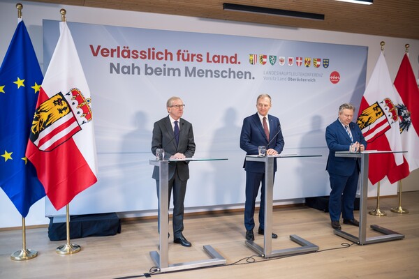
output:
M 404 54 L 395 78 L 395 90 L 402 103 L 397 104 L 404 163 L 390 170 L 388 178 L 399 181 L 419 168 L 419 89 L 409 56 Z

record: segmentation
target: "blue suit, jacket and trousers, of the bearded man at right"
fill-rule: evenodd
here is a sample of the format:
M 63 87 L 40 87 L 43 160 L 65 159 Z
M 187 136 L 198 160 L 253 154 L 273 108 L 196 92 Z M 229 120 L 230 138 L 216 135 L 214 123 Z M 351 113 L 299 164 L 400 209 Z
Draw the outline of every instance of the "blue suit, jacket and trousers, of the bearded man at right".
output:
M 349 137 L 339 119 L 326 128 L 326 142 L 329 148 L 326 170 L 329 172 L 330 192 L 329 213 L 330 220 L 339 221 L 342 218 L 353 219 L 353 202 L 355 201 L 360 172 L 360 161 L 356 158 L 336 157 L 336 151 L 348 151 L 352 142 L 364 144 L 367 148 L 362 132 L 358 125 L 349 123 L 353 141 Z

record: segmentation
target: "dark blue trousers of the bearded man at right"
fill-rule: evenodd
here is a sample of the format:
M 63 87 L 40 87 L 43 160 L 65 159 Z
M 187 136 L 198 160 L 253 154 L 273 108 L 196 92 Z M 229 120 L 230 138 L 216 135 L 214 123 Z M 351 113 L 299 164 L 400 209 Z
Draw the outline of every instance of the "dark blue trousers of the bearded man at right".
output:
M 355 167 L 350 176 L 341 176 L 329 173 L 330 198 L 329 213 L 330 220 L 339 221 L 342 218 L 353 219 L 353 202 L 355 202 L 356 189 L 358 188 L 359 172 Z

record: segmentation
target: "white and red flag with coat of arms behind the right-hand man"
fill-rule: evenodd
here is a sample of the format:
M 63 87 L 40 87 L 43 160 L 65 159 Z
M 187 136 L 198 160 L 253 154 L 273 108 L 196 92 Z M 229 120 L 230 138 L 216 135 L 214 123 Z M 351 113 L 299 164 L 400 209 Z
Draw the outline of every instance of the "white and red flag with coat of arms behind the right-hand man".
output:
M 367 150 L 402 151 L 397 103 L 399 96 L 392 86 L 387 63 L 381 52 L 362 97 L 357 120 L 367 141 Z M 369 156 L 369 181 L 372 184 L 381 181 L 392 167 L 402 163 L 402 153 Z

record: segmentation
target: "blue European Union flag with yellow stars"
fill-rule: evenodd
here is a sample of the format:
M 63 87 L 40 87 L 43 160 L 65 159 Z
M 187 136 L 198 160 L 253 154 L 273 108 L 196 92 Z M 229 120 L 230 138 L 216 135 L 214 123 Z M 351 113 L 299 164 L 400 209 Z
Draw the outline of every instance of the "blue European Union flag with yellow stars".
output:
M 24 155 L 42 81 L 29 33 L 20 21 L 0 68 L 0 186 L 22 217 L 45 196 L 34 165 Z

